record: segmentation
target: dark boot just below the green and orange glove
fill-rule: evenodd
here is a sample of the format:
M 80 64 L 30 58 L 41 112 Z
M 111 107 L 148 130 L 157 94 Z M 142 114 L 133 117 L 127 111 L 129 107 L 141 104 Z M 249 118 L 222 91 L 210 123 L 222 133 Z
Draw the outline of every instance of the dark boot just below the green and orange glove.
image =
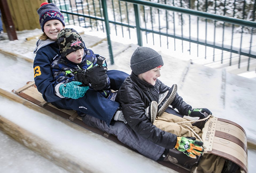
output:
M 194 165 L 197 165 L 201 157 L 198 157 L 196 159 L 191 158 L 184 154 L 181 151 L 178 151 L 176 149 L 170 149 L 168 155 L 165 157 L 164 161 L 172 162 L 180 164 L 183 167 L 191 168 Z

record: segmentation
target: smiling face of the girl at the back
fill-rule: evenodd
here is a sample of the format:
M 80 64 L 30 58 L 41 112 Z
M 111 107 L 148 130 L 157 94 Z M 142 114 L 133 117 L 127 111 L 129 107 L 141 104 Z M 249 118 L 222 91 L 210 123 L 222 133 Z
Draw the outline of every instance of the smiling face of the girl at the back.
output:
M 49 20 L 45 22 L 45 25 L 43 26 L 43 30 L 45 34 L 51 39 L 56 41 L 57 36 L 59 34 L 59 31 L 61 31 L 64 28 L 63 24 L 59 20 Z

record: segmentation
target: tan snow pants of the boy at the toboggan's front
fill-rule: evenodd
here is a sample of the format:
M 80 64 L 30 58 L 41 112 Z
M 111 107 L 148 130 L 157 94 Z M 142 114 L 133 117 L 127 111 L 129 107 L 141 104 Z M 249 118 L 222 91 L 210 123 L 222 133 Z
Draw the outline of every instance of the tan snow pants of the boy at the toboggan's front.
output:
M 187 127 L 181 126 L 178 124 L 175 124 L 175 122 L 183 122 L 187 121 L 184 118 L 175 116 L 173 114 L 169 114 L 164 112 L 161 117 L 156 117 L 154 121 L 154 125 L 157 126 L 159 129 L 162 129 L 164 131 L 173 133 L 179 137 L 195 137 L 197 138 L 194 133 Z M 183 123 L 190 128 L 192 128 L 201 138 L 202 131 L 192 126 L 191 123 Z M 214 155 L 214 154 L 204 154 L 202 156 L 202 159 L 199 162 L 199 166 L 197 168 L 198 172 L 204 172 L 204 173 L 220 173 L 222 171 L 222 168 L 224 166 L 225 159 Z

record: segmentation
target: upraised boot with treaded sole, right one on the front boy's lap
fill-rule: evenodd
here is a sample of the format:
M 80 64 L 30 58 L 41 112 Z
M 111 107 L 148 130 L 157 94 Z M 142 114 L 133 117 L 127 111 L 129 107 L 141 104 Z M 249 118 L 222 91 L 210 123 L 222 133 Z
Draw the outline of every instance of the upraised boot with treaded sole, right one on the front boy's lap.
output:
M 165 93 L 159 94 L 158 99 L 158 113 L 157 116 L 160 117 L 163 112 L 165 112 L 166 108 L 173 102 L 176 93 L 177 93 L 177 85 L 174 84 L 172 89 L 166 91 Z

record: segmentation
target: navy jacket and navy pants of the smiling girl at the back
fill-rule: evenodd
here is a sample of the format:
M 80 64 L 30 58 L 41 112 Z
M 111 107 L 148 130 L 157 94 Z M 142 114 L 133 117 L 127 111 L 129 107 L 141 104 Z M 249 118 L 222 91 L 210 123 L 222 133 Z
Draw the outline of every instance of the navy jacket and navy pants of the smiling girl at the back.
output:
M 34 81 L 44 100 L 51 102 L 60 109 L 76 110 L 83 116 L 88 114 L 105 121 L 109 126 L 120 104 L 103 97 L 100 92 L 94 89 L 87 90 L 85 96 L 78 99 L 56 96 L 55 85 L 57 82 L 51 72 L 51 63 L 54 57 L 60 55 L 58 44 L 50 40 L 41 40 L 37 43 L 37 46 L 38 48 L 34 51 L 34 53 L 37 53 L 33 64 Z M 110 89 L 117 90 L 128 74 L 118 70 L 108 70 L 107 76 L 110 79 Z

